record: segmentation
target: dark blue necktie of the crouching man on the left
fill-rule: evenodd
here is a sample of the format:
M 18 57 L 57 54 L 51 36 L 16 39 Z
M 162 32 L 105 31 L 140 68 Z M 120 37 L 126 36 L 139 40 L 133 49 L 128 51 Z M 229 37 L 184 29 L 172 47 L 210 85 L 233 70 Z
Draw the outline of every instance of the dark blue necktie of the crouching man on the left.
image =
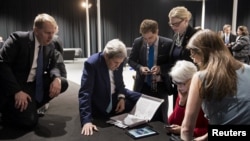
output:
M 43 47 L 39 46 L 36 68 L 36 100 L 43 100 Z

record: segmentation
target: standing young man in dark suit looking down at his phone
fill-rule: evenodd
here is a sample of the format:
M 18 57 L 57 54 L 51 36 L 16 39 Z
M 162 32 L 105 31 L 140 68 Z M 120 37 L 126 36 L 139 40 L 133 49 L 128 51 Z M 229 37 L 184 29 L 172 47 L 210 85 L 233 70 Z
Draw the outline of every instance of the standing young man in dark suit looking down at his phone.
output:
M 169 66 L 166 63 L 172 40 L 158 36 L 158 23 L 145 19 L 140 25 L 141 37 L 134 40 L 128 64 L 136 71 L 134 90 L 150 96 L 164 99 L 163 104 L 152 120 L 167 122 L 168 94 L 165 76 Z M 148 66 L 150 46 L 154 49 L 153 66 Z M 148 83 L 149 79 L 149 83 Z M 151 79 L 151 80 L 150 80 Z M 152 81 L 152 83 L 150 83 Z

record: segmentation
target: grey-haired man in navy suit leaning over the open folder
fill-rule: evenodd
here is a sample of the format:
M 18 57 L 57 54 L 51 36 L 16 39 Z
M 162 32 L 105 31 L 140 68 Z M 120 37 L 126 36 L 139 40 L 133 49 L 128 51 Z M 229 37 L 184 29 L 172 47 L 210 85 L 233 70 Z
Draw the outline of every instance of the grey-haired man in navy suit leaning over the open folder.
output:
M 93 119 L 130 112 L 140 93 L 125 88 L 123 63 L 126 46 L 118 39 L 109 41 L 103 52 L 93 54 L 84 62 L 79 90 L 79 110 L 83 135 L 97 130 Z

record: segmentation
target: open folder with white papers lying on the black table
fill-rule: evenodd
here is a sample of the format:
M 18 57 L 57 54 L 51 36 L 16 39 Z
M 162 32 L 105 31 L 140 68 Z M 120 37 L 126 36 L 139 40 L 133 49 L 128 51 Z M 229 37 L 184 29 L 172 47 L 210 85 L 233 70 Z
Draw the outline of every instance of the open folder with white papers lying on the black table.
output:
M 164 100 L 142 94 L 130 113 L 116 115 L 107 123 L 114 124 L 120 128 L 132 128 L 149 122 Z

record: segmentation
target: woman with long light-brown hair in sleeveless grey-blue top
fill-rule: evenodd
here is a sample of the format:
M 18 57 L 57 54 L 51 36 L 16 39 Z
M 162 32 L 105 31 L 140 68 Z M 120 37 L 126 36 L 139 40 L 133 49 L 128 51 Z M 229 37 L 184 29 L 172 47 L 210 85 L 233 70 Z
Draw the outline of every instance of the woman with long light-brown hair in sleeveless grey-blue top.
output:
M 181 138 L 192 140 L 200 106 L 209 125 L 250 125 L 250 66 L 236 60 L 208 29 L 198 31 L 187 48 L 199 71 L 191 80 Z

